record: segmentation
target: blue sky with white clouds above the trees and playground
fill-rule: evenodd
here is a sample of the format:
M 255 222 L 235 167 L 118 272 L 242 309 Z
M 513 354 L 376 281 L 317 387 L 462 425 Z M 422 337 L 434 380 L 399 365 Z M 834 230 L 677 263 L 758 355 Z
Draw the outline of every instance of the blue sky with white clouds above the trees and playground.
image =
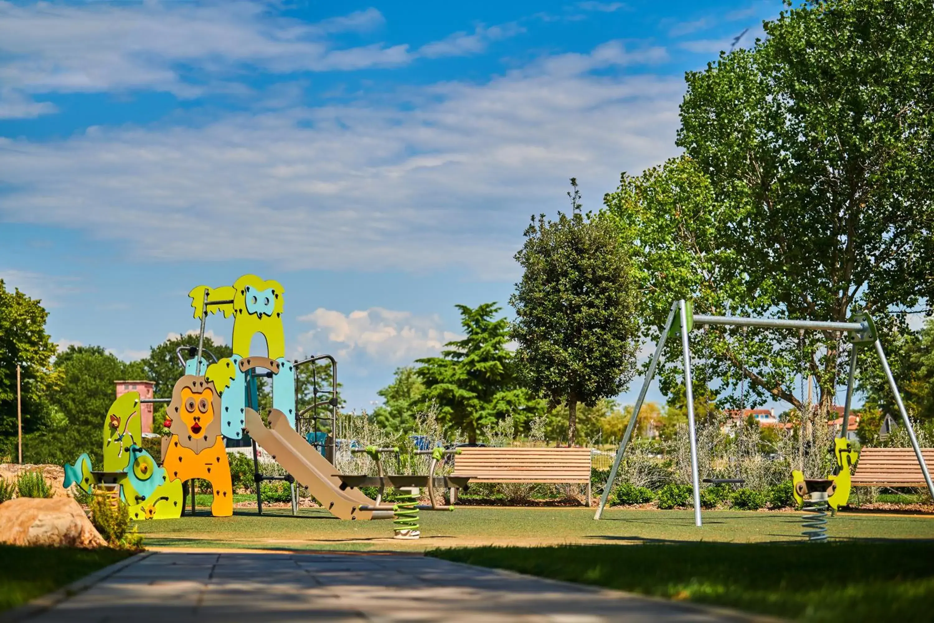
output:
M 0 277 L 126 360 L 197 329 L 193 286 L 276 278 L 288 354 L 371 408 L 454 304 L 509 312 L 569 177 L 597 208 L 675 155 L 684 72 L 781 8 L 0 0 Z

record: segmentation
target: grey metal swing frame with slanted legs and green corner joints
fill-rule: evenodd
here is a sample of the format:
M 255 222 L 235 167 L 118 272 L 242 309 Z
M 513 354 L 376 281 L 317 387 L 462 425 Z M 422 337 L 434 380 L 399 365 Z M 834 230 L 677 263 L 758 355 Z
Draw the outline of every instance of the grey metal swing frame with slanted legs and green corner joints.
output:
M 853 399 L 853 390 L 856 381 L 857 348 L 867 347 L 870 345 L 875 347 L 876 355 L 878 355 L 879 361 L 882 363 L 885 377 L 888 379 L 888 386 L 890 389 L 892 389 L 892 393 L 895 396 L 895 402 L 899 406 L 899 413 L 901 414 L 901 419 L 905 424 L 905 430 L 908 431 L 908 436 L 912 440 L 914 455 L 917 457 L 918 464 L 921 466 L 921 473 L 925 476 L 927 490 L 930 492 L 931 497 L 934 497 L 934 483 L 931 482 L 931 476 L 927 471 L 925 458 L 921 454 L 921 448 L 918 446 L 918 440 L 914 436 L 914 429 L 912 428 L 911 420 L 908 418 L 908 412 L 905 411 L 905 405 L 901 402 L 899 387 L 895 382 L 895 378 L 892 376 L 891 369 L 888 367 L 888 361 L 885 359 L 885 352 L 883 350 L 882 343 L 879 341 L 879 336 L 876 333 L 875 324 L 872 322 L 872 319 L 868 313 L 856 313 L 853 315 L 850 322 L 739 318 L 730 316 L 695 316 L 693 314 L 691 303 L 685 300 L 681 300 L 672 304 L 672 311 L 669 313 L 668 320 L 665 322 L 665 327 L 662 330 L 660 337 L 658 338 L 658 346 L 655 349 L 655 354 L 652 355 L 652 361 L 649 363 L 648 371 L 646 372 L 643 381 L 643 387 L 639 391 L 639 398 L 636 400 L 636 404 L 632 409 L 630 423 L 626 427 L 626 432 L 623 434 L 622 441 L 619 443 L 619 449 L 616 450 L 616 459 L 613 461 L 613 467 L 610 469 L 610 475 L 606 479 L 606 484 L 603 487 L 603 494 L 600 498 L 600 505 L 597 507 L 597 513 L 594 515 L 594 519 L 601 518 L 603 514 L 603 507 L 606 506 L 606 500 L 610 494 L 610 488 L 612 488 L 613 482 L 616 480 L 616 473 L 619 471 L 619 463 L 623 459 L 623 453 L 626 451 L 626 446 L 628 446 L 630 443 L 632 430 L 635 428 L 636 420 L 639 418 L 639 412 L 642 409 L 642 405 L 645 400 L 645 394 L 648 391 L 649 384 L 652 382 L 652 378 L 655 375 L 655 370 L 658 366 L 658 360 L 661 359 L 661 352 L 665 347 L 665 341 L 670 335 L 673 335 L 674 333 L 680 333 L 681 347 L 685 365 L 687 430 L 690 435 L 691 445 L 691 487 L 694 492 L 694 523 L 699 527 L 701 526 L 701 488 L 698 482 L 697 433 L 694 423 L 694 395 L 693 388 L 691 386 L 691 352 L 690 343 L 687 338 L 688 333 L 690 333 L 691 329 L 694 328 L 694 325 L 726 325 L 732 327 L 797 329 L 803 331 L 840 331 L 847 333 L 848 339 L 853 347 L 850 354 L 850 374 L 846 384 L 846 404 L 843 406 L 843 424 L 841 427 L 842 437 L 846 436 L 846 429 L 849 424 L 850 403 Z

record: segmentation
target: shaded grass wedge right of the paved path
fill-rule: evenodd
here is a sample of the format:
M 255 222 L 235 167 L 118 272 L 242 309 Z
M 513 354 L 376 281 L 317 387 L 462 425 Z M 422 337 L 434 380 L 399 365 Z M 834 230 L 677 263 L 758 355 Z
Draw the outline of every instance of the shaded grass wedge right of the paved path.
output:
M 462 547 L 428 555 L 809 623 L 934 620 L 934 541 Z

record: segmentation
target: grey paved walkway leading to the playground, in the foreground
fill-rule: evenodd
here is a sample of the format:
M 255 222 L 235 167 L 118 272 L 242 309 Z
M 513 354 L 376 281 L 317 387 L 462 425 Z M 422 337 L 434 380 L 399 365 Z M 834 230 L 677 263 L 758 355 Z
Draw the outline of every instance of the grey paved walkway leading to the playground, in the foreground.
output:
M 410 555 L 156 552 L 31 623 L 751 621 Z

